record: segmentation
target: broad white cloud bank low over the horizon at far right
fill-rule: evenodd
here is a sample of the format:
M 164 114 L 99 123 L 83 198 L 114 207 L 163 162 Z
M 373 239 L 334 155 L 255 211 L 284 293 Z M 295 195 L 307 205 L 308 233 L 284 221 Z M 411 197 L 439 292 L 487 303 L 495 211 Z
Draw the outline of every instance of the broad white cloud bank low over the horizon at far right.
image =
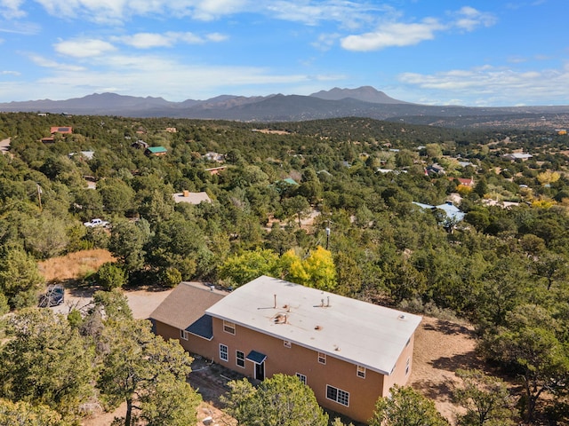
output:
M 445 93 L 447 99 L 475 95 L 478 105 L 566 103 L 569 99 L 569 65 L 532 71 L 484 66 L 432 75 L 404 73 L 398 78 L 420 90 Z

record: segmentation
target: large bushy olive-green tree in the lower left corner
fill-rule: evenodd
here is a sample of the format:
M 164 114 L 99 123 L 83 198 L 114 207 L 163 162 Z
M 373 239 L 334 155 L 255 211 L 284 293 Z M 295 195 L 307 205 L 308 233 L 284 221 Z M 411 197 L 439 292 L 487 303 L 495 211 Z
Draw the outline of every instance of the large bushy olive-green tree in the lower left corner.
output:
M 93 351 L 68 320 L 49 309 L 9 319 L 12 338 L 0 353 L 0 397 L 49 406 L 74 418 L 92 398 Z

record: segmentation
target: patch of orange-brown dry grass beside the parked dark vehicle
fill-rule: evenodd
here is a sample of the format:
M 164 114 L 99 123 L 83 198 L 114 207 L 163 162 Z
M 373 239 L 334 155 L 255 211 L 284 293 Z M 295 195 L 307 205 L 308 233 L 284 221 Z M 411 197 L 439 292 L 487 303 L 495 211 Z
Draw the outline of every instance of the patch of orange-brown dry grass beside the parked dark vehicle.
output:
M 38 267 L 47 282 L 60 282 L 82 278 L 89 272 L 96 272 L 101 264 L 114 261 L 108 250 L 94 248 L 52 257 L 40 262 Z

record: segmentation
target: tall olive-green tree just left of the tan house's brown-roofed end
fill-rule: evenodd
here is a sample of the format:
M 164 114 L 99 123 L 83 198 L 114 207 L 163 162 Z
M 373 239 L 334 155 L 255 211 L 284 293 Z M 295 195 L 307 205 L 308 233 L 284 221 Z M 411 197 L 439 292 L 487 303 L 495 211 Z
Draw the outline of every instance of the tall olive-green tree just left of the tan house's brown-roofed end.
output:
M 191 398 L 178 408 L 172 406 L 172 401 L 179 398 L 177 392 L 184 388 L 180 382 L 186 383 L 192 361 L 178 341 L 164 342 L 152 333 L 148 321 L 137 319 L 108 320 L 102 339 L 107 342 L 102 347 L 108 347 L 108 351 L 98 387 L 108 406 L 126 402 L 124 426 L 131 426 L 133 409 L 140 410 L 151 424 L 196 422 L 199 398 L 193 390 L 182 389 Z M 165 423 L 160 420 L 163 414 Z

